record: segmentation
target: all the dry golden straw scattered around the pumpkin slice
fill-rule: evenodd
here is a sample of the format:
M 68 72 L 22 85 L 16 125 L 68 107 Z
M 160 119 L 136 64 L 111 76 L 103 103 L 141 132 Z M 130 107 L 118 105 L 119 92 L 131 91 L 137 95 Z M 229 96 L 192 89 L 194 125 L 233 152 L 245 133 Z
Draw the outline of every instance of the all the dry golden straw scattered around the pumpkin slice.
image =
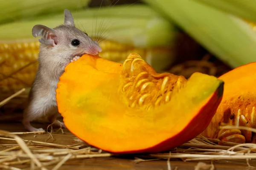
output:
M 13 97 L 22 93 L 10 96 L 4 102 L 5 104 Z M 241 126 L 223 126 L 221 129 L 242 129 L 256 132 L 256 129 Z M 17 144 L 9 144 L 2 142 L 0 146 L 6 147 L 0 151 L 0 168 L 9 170 L 20 170 L 20 165 L 31 170 L 41 169 L 47 170 L 47 167 L 53 166 L 52 170 L 58 170 L 68 161 L 78 159 L 90 159 L 97 157 L 111 157 L 118 156 L 111 153 L 102 152 L 97 148 L 88 147 L 78 138 L 74 138 L 76 144 L 64 145 L 49 142 L 39 142 L 33 140 L 24 140 L 22 135 L 35 135 L 37 133 L 45 132 L 7 132 L 0 130 L 0 140 L 15 141 Z M 20 136 L 18 136 L 20 135 Z M 52 137 L 54 134 L 49 133 Z M 64 134 L 63 134 L 64 135 Z M 200 137 L 200 138 L 199 138 Z M 208 139 L 204 136 L 192 139 L 179 147 L 170 150 L 168 153 L 157 153 L 140 155 L 134 159 L 134 163 L 145 161 L 157 161 L 160 159 L 167 159 L 167 168 L 172 170 L 172 160 L 181 159 L 182 161 L 199 161 L 195 166 L 195 170 L 214 169 L 214 162 L 218 160 L 244 160 L 244 163 L 250 167 L 249 161 L 256 159 L 256 144 L 235 144 L 231 142 L 223 142 L 233 146 L 218 145 L 218 139 Z M 143 159 L 143 158 L 147 159 Z M 206 164 L 201 161 L 212 161 L 212 164 Z M 232 162 L 232 161 L 231 161 Z M 177 167 L 175 167 L 177 169 Z

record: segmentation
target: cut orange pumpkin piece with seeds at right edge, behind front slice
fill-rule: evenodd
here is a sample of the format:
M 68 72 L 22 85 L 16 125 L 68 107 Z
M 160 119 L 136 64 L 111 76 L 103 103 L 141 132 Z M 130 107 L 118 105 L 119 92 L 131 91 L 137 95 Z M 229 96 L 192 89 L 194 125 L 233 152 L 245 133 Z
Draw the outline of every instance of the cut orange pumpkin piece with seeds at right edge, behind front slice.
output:
M 211 139 L 235 143 L 256 143 L 248 130 L 219 129 L 220 125 L 256 128 L 256 62 L 237 67 L 218 77 L 225 82 L 223 99 L 209 126 L 201 133 Z M 228 145 L 219 142 L 221 145 Z

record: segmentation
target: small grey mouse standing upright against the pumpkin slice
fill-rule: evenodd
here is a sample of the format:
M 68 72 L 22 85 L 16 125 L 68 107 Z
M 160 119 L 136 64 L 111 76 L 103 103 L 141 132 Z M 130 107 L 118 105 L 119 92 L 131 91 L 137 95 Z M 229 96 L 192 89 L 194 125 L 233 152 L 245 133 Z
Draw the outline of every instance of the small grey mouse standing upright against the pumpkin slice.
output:
M 45 131 L 35 128 L 30 122 L 49 121 L 52 125 L 65 127 L 56 120 L 58 113 L 55 90 L 59 77 L 70 62 L 77 61 L 83 54 L 97 55 L 102 51 L 99 44 L 86 33 L 75 27 L 69 10 L 64 10 L 64 24 L 55 28 L 35 25 L 34 37 L 39 39 L 38 71 L 29 92 L 29 101 L 23 112 L 23 125 L 29 131 Z

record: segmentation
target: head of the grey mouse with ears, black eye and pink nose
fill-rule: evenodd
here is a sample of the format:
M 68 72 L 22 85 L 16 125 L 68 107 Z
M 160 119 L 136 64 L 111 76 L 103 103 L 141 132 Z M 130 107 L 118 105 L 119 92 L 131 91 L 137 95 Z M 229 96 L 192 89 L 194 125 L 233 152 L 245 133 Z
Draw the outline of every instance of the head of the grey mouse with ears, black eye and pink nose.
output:
M 75 27 L 74 19 L 69 10 L 64 10 L 64 24 L 55 28 L 35 25 L 32 28 L 34 37 L 41 37 L 39 42 L 51 48 L 67 50 L 66 53 L 74 56 L 82 54 L 96 55 L 102 51 L 99 44 L 93 41 L 86 33 Z M 70 56 L 72 58 L 73 56 Z

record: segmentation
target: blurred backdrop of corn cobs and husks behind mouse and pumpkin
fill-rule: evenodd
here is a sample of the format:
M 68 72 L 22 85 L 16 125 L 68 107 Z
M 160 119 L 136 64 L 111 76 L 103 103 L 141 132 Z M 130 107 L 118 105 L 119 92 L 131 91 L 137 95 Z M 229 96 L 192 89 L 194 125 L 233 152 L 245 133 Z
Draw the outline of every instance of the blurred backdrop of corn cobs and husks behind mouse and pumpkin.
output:
M 0 121 L 20 120 L 26 105 L 40 45 L 32 27 L 63 24 L 66 8 L 115 62 L 135 52 L 157 72 L 189 78 L 256 61 L 255 0 L 0 1 L 0 101 L 26 89 L 0 104 Z

